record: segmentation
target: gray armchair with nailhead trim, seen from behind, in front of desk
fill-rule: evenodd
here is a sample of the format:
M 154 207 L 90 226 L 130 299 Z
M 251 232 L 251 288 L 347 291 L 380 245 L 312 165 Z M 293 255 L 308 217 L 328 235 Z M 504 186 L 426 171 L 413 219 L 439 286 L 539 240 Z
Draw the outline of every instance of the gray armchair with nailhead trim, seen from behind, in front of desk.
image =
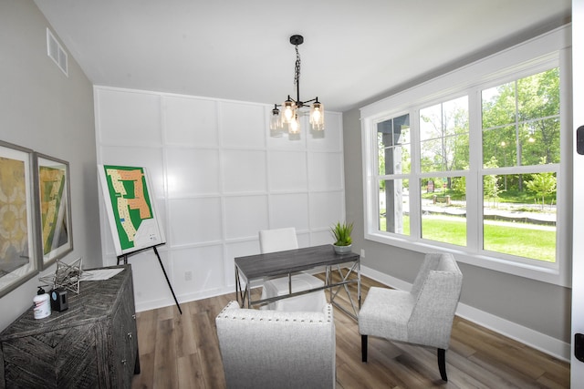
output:
M 241 309 L 215 318 L 227 388 L 334 388 L 335 322 L 323 312 Z

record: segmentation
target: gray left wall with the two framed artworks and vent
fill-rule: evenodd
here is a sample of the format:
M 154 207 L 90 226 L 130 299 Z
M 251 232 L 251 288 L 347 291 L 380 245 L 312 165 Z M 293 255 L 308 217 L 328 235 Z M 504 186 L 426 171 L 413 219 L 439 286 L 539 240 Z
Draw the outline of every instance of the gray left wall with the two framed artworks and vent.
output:
M 68 77 L 47 56 L 47 26 L 32 0 L 0 1 L 0 139 L 69 162 L 74 251 L 64 260 L 83 257 L 85 268 L 97 267 L 93 88 L 70 55 Z M 0 330 L 32 307 L 38 284 L 35 277 L 0 299 Z

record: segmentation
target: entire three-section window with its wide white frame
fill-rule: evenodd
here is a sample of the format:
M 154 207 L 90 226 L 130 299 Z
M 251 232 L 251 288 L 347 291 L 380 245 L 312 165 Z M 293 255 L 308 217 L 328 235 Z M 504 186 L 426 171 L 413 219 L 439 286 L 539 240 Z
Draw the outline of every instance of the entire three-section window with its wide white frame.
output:
M 537 45 L 361 109 L 366 239 L 568 282 L 565 55 Z

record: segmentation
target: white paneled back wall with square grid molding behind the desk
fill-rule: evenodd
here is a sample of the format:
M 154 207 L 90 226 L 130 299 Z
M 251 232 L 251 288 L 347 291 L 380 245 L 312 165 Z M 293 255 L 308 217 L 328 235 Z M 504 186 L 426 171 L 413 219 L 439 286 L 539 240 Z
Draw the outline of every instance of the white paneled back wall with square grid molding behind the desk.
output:
M 331 243 L 345 218 L 342 117 L 324 138 L 270 138 L 273 106 L 95 87 L 98 163 L 145 167 L 163 220 L 164 267 L 179 302 L 235 291 L 234 258 L 257 231 L 293 226 L 301 247 Z M 101 193 L 99 193 L 101 196 Z M 116 253 L 101 200 L 104 264 Z M 130 257 L 138 311 L 172 305 L 153 251 Z

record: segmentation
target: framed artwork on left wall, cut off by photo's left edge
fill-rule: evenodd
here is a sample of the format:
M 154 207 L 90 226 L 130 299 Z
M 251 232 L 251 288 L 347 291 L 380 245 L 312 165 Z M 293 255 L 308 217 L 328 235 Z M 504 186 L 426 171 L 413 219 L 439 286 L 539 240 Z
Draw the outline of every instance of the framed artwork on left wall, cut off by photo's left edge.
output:
M 33 151 L 0 141 L 0 297 L 38 273 Z

